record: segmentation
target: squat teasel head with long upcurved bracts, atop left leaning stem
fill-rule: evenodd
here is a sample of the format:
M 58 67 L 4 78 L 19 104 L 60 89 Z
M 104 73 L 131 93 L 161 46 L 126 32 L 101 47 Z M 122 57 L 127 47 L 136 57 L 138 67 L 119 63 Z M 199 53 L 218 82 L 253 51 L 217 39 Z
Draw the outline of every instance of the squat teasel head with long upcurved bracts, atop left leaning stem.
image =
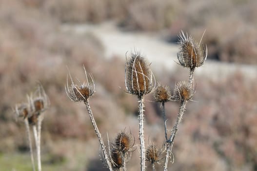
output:
M 80 81 L 78 81 L 79 82 L 78 84 L 74 83 L 69 72 L 69 76 L 71 80 L 71 85 L 69 85 L 68 76 L 67 76 L 67 85 L 65 85 L 65 90 L 66 90 L 67 96 L 74 102 L 86 101 L 95 92 L 95 83 L 94 83 L 93 76 L 89 74 L 90 76 L 90 80 L 89 80 L 85 67 L 83 68 L 86 75 L 86 82 L 83 82 L 83 84 L 81 84 Z

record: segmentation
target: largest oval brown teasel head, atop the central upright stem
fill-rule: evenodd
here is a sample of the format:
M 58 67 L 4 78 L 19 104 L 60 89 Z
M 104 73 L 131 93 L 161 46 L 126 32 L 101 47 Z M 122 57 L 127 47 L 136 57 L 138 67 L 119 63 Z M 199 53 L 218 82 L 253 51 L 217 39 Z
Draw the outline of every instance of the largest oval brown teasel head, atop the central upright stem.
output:
M 155 80 L 149 64 L 139 52 L 132 53 L 126 59 L 125 86 L 130 94 L 138 96 L 150 93 L 155 87 Z

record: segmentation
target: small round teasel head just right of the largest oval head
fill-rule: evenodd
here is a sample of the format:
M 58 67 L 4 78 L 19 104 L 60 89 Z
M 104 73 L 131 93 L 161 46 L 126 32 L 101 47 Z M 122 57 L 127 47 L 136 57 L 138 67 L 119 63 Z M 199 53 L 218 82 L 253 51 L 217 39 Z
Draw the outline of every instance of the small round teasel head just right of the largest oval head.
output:
M 171 97 L 170 88 L 159 84 L 153 93 L 153 97 L 155 102 L 168 102 Z

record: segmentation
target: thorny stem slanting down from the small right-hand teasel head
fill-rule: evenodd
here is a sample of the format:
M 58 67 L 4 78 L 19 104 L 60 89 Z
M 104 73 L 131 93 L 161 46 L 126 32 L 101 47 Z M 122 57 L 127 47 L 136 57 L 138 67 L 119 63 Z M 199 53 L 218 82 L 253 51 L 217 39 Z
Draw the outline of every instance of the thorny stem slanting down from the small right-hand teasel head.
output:
M 177 135 L 177 131 L 178 131 L 178 125 L 182 120 L 182 117 L 183 117 L 183 114 L 184 114 L 184 111 L 186 108 L 186 104 L 187 104 L 186 100 L 181 100 L 176 124 L 174 125 L 174 127 L 172 129 L 172 134 L 171 134 L 169 140 L 166 142 L 167 150 L 166 150 L 166 157 L 165 157 L 165 163 L 164 163 L 164 171 L 167 171 L 167 168 L 168 168 L 168 160 L 171 155 L 174 139 L 175 139 L 175 136 Z

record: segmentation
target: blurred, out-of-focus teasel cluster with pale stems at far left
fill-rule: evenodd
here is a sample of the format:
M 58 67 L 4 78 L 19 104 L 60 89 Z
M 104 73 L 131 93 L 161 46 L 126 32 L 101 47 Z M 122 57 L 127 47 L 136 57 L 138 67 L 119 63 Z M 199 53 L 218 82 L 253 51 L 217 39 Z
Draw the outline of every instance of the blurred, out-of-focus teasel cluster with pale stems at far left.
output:
M 43 112 L 50 106 L 49 98 L 46 95 L 42 85 L 38 85 L 37 89 L 27 95 L 27 103 L 17 104 L 14 108 L 14 112 L 17 118 L 21 117 L 24 120 L 27 132 L 27 138 L 29 142 L 31 162 L 33 171 L 36 171 L 32 147 L 32 138 L 30 135 L 30 128 L 33 129 L 35 145 L 37 150 L 38 171 L 41 171 L 41 159 L 40 159 L 40 134 L 41 123 L 43 120 Z

